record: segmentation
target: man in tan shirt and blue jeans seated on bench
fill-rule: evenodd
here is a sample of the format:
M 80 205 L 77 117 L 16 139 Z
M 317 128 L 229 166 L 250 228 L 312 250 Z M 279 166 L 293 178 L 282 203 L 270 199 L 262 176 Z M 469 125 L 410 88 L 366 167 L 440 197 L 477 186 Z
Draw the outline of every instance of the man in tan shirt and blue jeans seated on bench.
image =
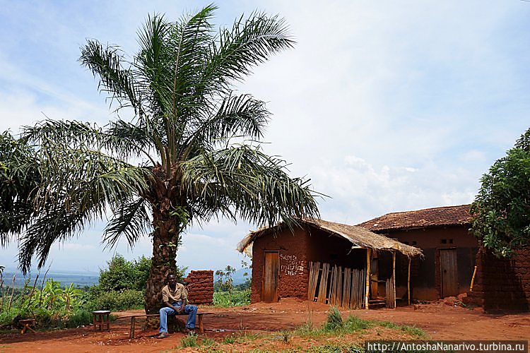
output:
M 167 333 L 167 316 L 189 313 L 186 328 L 195 328 L 197 307 L 187 305 L 188 292 L 184 285 L 177 283 L 175 275 L 167 276 L 167 285 L 162 289 L 162 301 L 165 307 L 160 309 L 160 334 L 157 338 L 169 337 Z

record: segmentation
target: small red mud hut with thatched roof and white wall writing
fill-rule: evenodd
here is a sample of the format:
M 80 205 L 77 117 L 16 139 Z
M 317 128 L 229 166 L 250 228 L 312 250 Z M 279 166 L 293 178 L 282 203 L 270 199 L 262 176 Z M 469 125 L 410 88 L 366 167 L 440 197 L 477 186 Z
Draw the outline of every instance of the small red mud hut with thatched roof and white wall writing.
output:
M 238 244 L 240 252 L 252 254 L 252 303 L 298 297 L 351 308 L 395 307 L 396 254 L 412 258 L 421 256 L 420 249 L 363 227 L 324 220 L 299 224 L 259 229 Z M 373 258 L 385 260 L 379 266 L 384 295 L 371 290 L 366 278 Z

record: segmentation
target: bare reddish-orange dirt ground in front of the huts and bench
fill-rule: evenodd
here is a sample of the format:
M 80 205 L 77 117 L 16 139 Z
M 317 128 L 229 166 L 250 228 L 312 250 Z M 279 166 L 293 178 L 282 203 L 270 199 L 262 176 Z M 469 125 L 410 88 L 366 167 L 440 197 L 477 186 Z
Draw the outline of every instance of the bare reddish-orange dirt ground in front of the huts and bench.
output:
M 240 330 L 292 329 L 308 320 L 319 325 L 325 321 L 329 306 L 283 299 L 274 304 L 258 303 L 232 309 L 203 307 L 200 310 L 213 313 L 204 317 L 205 335 L 221 340 Z M 124 311 L 117 316 L 131 313 L 141 311 Z M 481 309 L 454 306 L 451 301 L 396 309 L 345 310 L 343 316 L 349 313 L 371 320 L 416 325 L 432 339 L 528 340 L 530 337 L 530 313 L 489 314 Z M 94 332 L 90 326 L 25 335 L 3 333 L 0 334 L 0 352 L 160 352 L 178 347 L 184 337 L 175 333 L 165 340 L 157 340 L 152 337 L 156 330 L 140 330 L 137 324 L 136 338 L 129 340 L 129 322 L 129 319 L 122 319 L 111 323 L 109 333 Z

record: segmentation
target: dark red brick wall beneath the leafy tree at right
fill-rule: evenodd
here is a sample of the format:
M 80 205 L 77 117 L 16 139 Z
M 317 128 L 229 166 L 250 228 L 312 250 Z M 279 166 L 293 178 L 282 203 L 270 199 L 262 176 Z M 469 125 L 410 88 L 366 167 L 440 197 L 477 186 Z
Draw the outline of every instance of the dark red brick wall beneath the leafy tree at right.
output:
M 477 274 L 466 302 L 490 309 L 529 311 L 530 249 L 512 258 L 496 258 L 481 248 L 476 256 Z

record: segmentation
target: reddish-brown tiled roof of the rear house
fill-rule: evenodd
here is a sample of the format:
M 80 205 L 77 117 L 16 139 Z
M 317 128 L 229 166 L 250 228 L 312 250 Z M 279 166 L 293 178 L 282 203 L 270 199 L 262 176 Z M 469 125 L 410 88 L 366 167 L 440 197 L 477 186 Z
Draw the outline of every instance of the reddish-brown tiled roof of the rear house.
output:
M 469 205 L 459 205 L 388 213 L 358 226 L 379 233 L 400 229 L 471 225 L 471 218 Z

